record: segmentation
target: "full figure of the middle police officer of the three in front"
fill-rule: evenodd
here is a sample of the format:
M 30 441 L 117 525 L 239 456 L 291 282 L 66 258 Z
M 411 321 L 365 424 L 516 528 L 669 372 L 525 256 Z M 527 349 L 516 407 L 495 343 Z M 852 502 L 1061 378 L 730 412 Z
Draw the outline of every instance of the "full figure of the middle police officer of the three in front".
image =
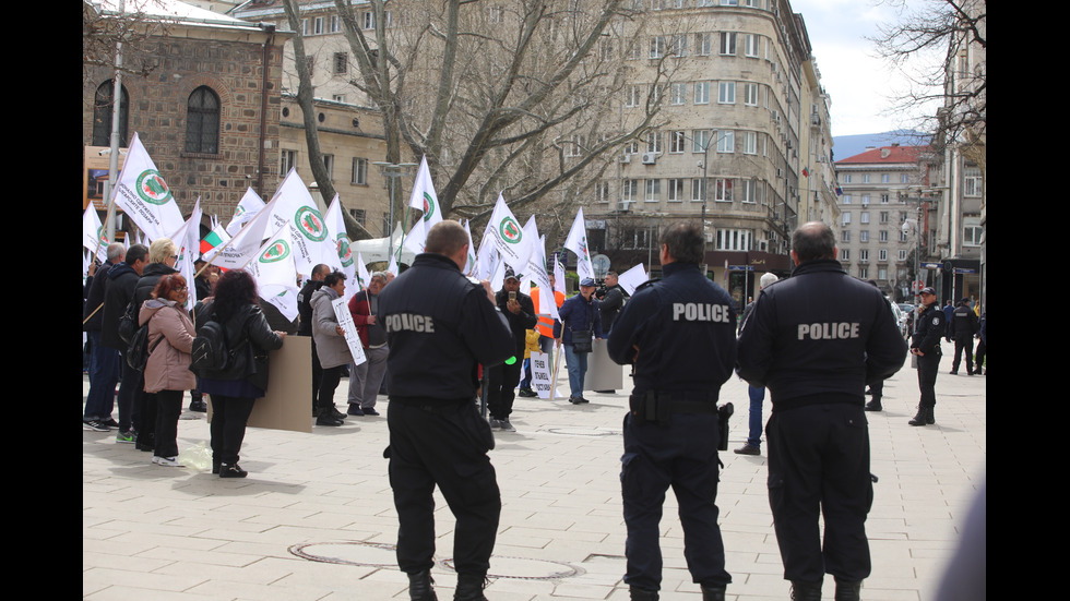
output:
M 658 521 L 670 485 L 703 601 L 723 600 L 732 581 L 717 525 L 717 396 L 736 361 L 736 314 L 728 293 L 699 271 L 704 245 L 701 226 L 670 226 L 665 277 L 635 290 L 609 334 L 609 357 L 634 364 L 620 473 L 633 600 L 658 598 Z

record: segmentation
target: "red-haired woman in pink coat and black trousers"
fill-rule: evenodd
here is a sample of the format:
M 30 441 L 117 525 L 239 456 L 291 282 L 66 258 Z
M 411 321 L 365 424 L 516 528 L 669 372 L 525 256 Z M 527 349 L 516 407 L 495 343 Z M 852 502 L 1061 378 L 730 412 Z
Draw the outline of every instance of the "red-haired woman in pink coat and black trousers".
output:
M 197 335 L 186 311 L 189 298 L 186 278 L 169 274 L 159 278 L 152 299 L 141 305 L 139 320 L 148 324 L 148 362 L 145 392 L 156 395 L 156 442 L 153 462 L 181 467 L 178 462 L 178 418 L 182 395 L 197 387 L 190 371 L 190 350 Z

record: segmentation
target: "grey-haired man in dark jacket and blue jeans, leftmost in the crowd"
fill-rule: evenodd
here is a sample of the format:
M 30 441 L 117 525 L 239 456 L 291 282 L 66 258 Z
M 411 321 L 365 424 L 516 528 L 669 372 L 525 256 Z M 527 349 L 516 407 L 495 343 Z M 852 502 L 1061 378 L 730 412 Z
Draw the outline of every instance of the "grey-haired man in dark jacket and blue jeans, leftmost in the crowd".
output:
M 97 268 L 90 284 L 90 293 L 82 311 L 82 330 L 90 341 L 90 393 L 85 396 L 85 410 L 82 412 L 82 428 L 107 432 L 119 425 L 111 419 L 115 408 L 115 385 L 119 382 L 119 351 L 100 344 L 100 327 L 104 323 L 104 292 L 108 283 L 108 272 L 122 262 L 127 252 L 119 242 L 108 244 L 108 260 Z

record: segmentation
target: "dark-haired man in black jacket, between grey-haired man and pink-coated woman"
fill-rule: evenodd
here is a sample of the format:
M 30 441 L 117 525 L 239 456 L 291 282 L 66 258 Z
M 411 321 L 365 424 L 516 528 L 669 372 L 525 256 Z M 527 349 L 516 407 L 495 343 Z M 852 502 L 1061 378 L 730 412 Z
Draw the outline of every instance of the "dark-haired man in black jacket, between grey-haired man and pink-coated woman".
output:
M 141 382 L 141 372 L 131 370 L 123 361 L 127 344 L 119 337 L 119 317 L 127 311 L 127 305 L 133 300 L 134 288 L 141 279 L 141 273 L 148 264 L 148 248 L 134 244 L 127 250 L 126 261 L 108 271 L 104 289 L 104 309 L 100 317 L 100 344 L 119 352 L 119 393 L 116 402 L 119 405 L 119 433 L 116 441 L 133 443 L 131 432 L 136 414 L 134 398 Z

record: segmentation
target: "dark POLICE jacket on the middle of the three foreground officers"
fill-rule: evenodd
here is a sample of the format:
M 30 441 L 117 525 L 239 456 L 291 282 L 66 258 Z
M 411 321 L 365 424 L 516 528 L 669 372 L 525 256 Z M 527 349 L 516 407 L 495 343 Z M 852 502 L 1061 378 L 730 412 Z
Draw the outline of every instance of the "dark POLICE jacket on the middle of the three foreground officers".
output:
M 617 315 L 609 357 L 634 363 L 633 394 L 711 393 L 715 399 L 736 364 L 732 299 L 693 263 L 662 271 L 665 277 L 639 287 Z

